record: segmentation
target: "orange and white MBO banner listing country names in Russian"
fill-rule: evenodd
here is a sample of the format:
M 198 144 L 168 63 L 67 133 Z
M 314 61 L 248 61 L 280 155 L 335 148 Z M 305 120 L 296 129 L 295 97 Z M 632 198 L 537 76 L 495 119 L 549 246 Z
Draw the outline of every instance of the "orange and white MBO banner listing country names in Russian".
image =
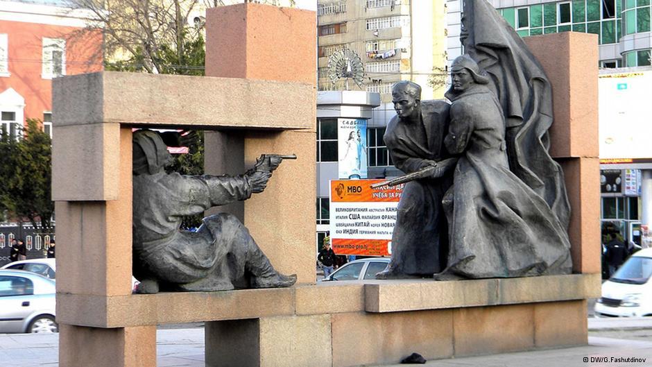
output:
M 330 236 L 338 255 L 389 256 L 396 208 L 404 185 L 370 185 L 383 180 L 332 180 Z

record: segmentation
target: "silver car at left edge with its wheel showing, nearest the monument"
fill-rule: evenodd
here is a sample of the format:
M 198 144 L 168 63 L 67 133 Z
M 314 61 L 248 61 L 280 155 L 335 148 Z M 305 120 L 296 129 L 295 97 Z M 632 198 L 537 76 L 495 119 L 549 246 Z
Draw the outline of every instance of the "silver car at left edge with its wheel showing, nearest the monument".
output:
M 0 333 L 58 332 L 54 280 L 19 270 L 0 270 Z

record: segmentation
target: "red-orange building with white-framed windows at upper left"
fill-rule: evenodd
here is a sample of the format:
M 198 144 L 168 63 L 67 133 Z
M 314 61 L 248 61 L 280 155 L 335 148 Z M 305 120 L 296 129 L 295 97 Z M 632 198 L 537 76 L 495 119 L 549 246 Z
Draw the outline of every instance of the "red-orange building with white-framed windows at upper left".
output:
M 101 32 L 85 29 L 89 12 L 64 4 L 0 1 L 0 121 L 14 136 L 26 119 L 51 134 L 53 78 L 103 69 Z

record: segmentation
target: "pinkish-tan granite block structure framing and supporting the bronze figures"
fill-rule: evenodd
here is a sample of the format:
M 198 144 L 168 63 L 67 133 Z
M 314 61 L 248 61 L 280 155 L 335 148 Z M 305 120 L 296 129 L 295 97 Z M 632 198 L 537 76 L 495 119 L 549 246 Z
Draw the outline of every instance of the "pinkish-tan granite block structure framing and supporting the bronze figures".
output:
M 205 323 L 210 367 L 350 367 L 396 364 L 415 350 L 443 359 L 585 345 L 586 299 L 601 283 L 597 37 L 526 42 L 555 87 L 550 152 L 573 207 L 570 275 L 314 284 L 315 12 L 209 9 L 207 77 L 55 78 L 59 366 L 154 367 L 156 325 L 190 322 Z M 294 287 L 132 293 L 132 129 L 144 127 L 209 130 L 214 175 L 242 173 L 261 152 L 297 153 L 263 193 L 218 207 L 278 271 L 297 273 Z

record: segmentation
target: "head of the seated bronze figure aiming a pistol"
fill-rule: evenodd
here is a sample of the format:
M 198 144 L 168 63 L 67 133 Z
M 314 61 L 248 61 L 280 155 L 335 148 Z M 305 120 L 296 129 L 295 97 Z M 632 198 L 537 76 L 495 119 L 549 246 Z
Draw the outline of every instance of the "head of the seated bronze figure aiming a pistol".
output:
M 133 172 L 159 173 L 172 162 L 161 136 L 152 130 L 138 130 L 133 137 Z

